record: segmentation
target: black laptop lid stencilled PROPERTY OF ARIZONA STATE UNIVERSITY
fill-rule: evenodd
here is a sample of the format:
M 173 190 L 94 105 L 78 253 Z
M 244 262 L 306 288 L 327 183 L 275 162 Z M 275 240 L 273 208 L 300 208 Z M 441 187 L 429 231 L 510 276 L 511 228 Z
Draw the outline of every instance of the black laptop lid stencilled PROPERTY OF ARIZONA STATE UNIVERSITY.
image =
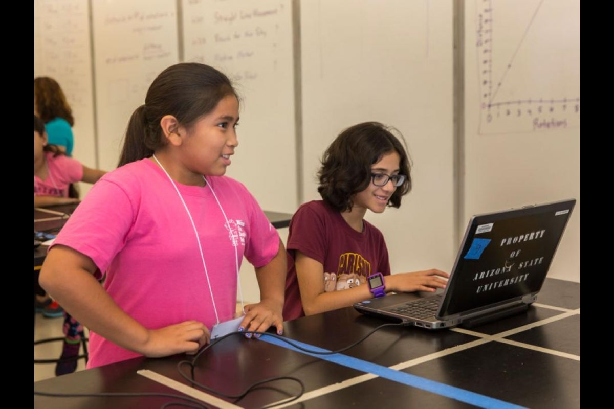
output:
M 575 202 L 569 199 L 473 216 L 439 317 L 476 312 L 537 293 Z

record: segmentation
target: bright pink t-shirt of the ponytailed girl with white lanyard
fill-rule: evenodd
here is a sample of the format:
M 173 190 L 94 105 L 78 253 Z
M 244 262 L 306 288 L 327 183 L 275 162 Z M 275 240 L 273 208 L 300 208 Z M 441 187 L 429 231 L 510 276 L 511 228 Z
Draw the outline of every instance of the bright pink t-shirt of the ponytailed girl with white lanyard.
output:
M 230 177 L 207 180 L 204 187 L 176 182 L 198 230 L 206 272 L 181 198 L 149 159 L 98 180 L 53 245 L 90 257 L 96 278 L 106 272 L 109 295 L 143 326 L 195 319 L 211 329 L 235 315 L 243 256 L 255 267 L 268 264 L 278 253 L 279 234 L 243 184 Z M 95 332 L 89 353 L 88 368 L 139 356 Z

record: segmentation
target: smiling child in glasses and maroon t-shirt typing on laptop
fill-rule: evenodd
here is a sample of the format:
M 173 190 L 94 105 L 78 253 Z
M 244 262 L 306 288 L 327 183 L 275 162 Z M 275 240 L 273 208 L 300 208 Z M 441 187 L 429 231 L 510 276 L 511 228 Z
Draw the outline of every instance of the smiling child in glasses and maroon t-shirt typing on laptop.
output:
M 364 220 L 367 210 L 400 207 L 411 190 L 410 159 L 391 130 L 377 122 L 356 124 L 325 151 L 317 188 L 322 200 L 301 205 L 290 220 L 284 320 L 387 291 L 445 288 L 449 275 L 437 269 L 391 275 L 384 237 Z M 371 292 L 367 277 L 375 273 L 385 277 L 385 291 Z

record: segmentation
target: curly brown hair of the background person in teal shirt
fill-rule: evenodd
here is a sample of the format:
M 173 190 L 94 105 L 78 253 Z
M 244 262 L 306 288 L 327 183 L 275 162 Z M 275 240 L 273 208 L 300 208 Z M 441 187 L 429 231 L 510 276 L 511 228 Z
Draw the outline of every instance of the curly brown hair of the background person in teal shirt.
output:
M 53 118 L 64 118 L 70 126 L 74 126 L 71 106 L 66 101 L 64 91 L 56 80 L 50 77 L 34 78 L 34 104 L 36 111 L 44 123 Z

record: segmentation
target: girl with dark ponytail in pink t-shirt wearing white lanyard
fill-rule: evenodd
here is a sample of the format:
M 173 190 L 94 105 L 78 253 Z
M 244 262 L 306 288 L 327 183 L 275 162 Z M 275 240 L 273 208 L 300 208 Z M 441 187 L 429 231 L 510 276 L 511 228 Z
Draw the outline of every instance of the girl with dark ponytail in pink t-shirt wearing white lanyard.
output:
M 238 121 L 226 75 L 168 67 L 128 122 L 119 167 L 56 237 L 39 279 L 90 330 L 88 368 L 196 353 L 235 318 L 243 257 L 261 300 L 244 307 L 238 331 L 282 334 L 284 245 L 247 188 L 224 176 Z

